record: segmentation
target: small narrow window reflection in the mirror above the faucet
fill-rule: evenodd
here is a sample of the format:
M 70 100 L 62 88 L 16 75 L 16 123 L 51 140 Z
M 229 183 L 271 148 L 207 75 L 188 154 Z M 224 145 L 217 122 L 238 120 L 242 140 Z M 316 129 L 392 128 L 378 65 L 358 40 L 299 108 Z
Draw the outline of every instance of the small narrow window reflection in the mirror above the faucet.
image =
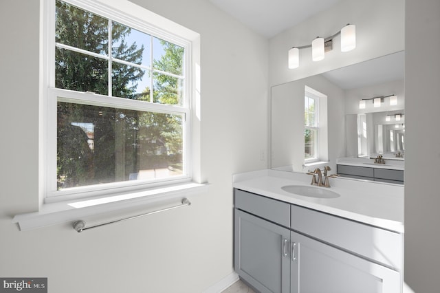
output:
M 305 162 L 318 160 L 319 102 L 307 91 L 304 98 L 304 153 Z

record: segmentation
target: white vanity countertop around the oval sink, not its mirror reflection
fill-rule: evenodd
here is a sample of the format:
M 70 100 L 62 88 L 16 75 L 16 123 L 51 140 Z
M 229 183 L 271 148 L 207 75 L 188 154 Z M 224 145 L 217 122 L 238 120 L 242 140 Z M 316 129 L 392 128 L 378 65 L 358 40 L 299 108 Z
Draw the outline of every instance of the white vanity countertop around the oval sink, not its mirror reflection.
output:
M 287 185 L 309 186 L 311 175 L 262 170 L 233 175 L 232 186 L 243 191 L 320 210 L 380 228 L 404 232 L 404 186 L 349 178 L 330 178 L 330 191 L 340 197 L 305 197 L 283 191 Z M 326 188 L 327 187 L 319 187 Z

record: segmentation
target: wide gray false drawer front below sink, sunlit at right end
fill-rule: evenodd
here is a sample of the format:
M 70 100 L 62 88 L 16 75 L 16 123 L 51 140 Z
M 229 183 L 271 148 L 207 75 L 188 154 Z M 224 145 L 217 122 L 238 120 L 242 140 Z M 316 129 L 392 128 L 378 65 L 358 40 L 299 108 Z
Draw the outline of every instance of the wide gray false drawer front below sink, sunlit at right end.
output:
M 401 271 L 403 236 L 292 205 L 292 229 Z

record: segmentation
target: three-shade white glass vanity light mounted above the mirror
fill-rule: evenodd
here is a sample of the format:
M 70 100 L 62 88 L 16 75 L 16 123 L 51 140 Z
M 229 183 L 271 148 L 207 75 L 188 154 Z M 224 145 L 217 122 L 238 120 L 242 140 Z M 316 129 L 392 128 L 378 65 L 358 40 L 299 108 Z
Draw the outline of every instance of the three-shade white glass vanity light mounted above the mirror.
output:
M 288 54 L 289 69 L 295 69 L 300 65 L 300 49 L 311 47 L 311 59 L 313 61 L 321 61 L 325 57 L 325 52 L 333 49 L 333 38 L 341 35 L 341 52 L 349 52 L 356 47 L 356 27 L 347 24 L 342 30 L 327 38 L 316 37 L 311 45 L 292 47 Z

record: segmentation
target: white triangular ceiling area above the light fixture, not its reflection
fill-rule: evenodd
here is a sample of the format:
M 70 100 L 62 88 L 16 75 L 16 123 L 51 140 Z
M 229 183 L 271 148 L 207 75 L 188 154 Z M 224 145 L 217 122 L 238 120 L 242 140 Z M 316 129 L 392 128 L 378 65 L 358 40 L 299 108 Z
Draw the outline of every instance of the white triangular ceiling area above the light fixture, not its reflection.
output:
M 340 0 L 208 0 L 267 39 Z

